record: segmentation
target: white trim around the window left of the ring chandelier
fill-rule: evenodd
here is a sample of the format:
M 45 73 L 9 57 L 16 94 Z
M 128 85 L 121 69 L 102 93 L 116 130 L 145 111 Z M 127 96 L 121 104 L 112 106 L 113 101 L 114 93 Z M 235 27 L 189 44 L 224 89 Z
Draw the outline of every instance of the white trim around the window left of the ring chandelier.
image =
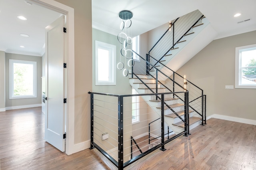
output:
M 110 51 L 109 81 L 98 80 L 98 48 Z M 95 85 L 116 85 L 116 45 L 95 41 Z

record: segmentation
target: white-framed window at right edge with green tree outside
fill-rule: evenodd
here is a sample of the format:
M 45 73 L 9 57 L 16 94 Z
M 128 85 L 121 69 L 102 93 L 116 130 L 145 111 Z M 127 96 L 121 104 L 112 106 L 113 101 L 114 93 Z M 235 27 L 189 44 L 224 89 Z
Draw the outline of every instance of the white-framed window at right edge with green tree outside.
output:
M 236 47 L 236 88 L 256 89 L 256 44 Z

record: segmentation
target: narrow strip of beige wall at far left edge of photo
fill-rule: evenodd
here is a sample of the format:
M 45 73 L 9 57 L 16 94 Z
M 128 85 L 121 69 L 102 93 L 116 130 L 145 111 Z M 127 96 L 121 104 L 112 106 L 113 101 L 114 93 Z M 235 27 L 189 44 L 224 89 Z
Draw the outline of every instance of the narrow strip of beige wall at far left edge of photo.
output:
M 5 52 L 0 51 L 0 111 L 5 111 Z

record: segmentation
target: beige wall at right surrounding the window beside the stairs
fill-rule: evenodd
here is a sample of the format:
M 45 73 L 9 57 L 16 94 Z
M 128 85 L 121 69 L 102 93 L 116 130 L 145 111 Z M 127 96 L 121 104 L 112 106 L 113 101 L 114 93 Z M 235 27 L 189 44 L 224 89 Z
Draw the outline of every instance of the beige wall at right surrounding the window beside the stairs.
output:
M 207 116 L 256 120 L 256 90 L 225 89 L 235 85 L 235 48 L 250 44 L 256 44 L 256 31 L 214 40 L 177 71 L 204 89 Z

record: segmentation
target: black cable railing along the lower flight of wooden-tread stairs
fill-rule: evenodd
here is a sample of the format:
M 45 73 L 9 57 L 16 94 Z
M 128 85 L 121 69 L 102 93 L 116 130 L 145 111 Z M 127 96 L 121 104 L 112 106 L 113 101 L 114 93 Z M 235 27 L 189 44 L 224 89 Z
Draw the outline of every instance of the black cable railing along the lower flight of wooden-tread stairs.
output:
M 133 51 L 133 52 L 136 53 L 136 51 Z M 154 74 L 151 74 L 152 71 L 148 71 L 148 70 L 147 71 L 149 72 L 148 76 L 150 76 L 152 79 L 156 80 L 156 87 L 154 88 L 155 91 L 153 91 L 143 81 L 143 79 L 141 79 L 139 77 L 139 75 L 140 75 L 139 73 L 132 72 L 132 77 L 136 77 L 137 79 L 139 79 L 146 86 L 146 88 L 149 89 L 152 93 L 158 92 L 158 84 L 162 85 L 164 88 L 166 88 L 166 90 L 168 90 L 170 92 L 186 91 L 186 90 L 190 91 L 189 108 L 192 109 L 192 111 L 196 112 L 196 114 L 199 117 L 201 117 L 201 125 L 204 125 L 204 122 L 206 121 L 206 110 L 204 109 L 206 107 L 206 102 L 203 99 L 204 91 L 200 87 L 194 85 L 194 83 L 192 83 L 191 81 L 185 79 L 184 77 L 182 77 L 181 75 L 179 75 L 178 73 L 173 71 L 172 69 L 166 67 L 164 64 L 161 63 L 163 67 L 160 70 L 157 67 L 155 67 L 154 65 L 152 65 L 152 63 L 146 61 L 146 59 L 141 57 L 138 53 L 136 53 L 136 55 L 138 55 L 140 57 L 140 59 L 146 63 L 146 68 L 140 67 L 141 70 L 149 69 L 149 68 L 154 69 L 154 72 L 155 72 Z M 151 58 L 154 59 L 154 57 L 151 57 Z M 172 75 L 172 77 L 170 77 L 168 75 Z M 164 80 L 164 82 L 161 80 Z M 186 88 L 184 86 L 182 86 L 185 84 L 186 84 Z M 173 94 L 173 98 L 174 97 L 177 97 L 181 101 L 183 101 L 183 96 Z M 160 97 L 158 97 L 156 95 L 156 99 L 160 99 Z M 169 105 L 166 104 L 166 107 L 168 107 L 168 109 L 170 109 L 177 117 L 180 118 L 181 121 L 184 122 L 184 119 L 182 119 L 182 117 L 180 117 Z

